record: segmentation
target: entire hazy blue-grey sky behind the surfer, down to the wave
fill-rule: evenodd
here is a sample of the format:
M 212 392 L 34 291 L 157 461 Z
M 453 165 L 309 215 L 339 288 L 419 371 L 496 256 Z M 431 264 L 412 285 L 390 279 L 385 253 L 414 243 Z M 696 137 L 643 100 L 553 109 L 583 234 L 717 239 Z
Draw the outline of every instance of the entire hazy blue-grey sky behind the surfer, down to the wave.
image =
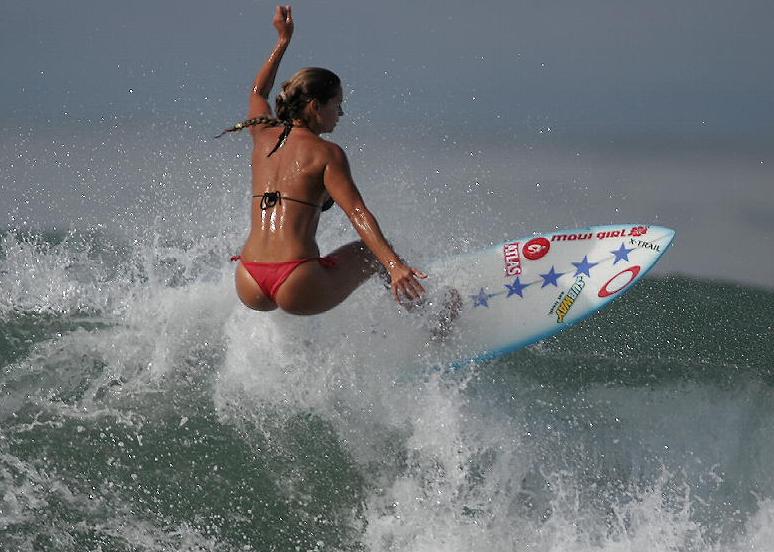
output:
M 293 8 L 278 82 L 308 65 L 342 76 L 333 139 L 398 246 L 650 222 L 678 230 L 664 270 L 771 287 L 774 2 Z M 245 115 L 273 9 L 0 0 L 0 228 L 241 232 L 248 141 L 210 137 Z M 326 230 L 331 246 L 346 228 Z

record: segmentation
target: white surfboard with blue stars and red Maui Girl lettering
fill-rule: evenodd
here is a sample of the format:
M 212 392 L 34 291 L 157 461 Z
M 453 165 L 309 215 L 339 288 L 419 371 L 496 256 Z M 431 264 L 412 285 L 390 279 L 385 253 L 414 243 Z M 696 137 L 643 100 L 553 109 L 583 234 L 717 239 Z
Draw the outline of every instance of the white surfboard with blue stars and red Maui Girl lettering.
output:
M 632 289 L 674 236 L 661 226 L 592 226 L 534 234 L 433 262 L 427 272 L 439 284 L 437 295 L 456 290 L 459 309 L 448 335 L 428 347 L 436 349 L 436 358 L 443 349 L 447 360 L 464 362 L 546 339 Z

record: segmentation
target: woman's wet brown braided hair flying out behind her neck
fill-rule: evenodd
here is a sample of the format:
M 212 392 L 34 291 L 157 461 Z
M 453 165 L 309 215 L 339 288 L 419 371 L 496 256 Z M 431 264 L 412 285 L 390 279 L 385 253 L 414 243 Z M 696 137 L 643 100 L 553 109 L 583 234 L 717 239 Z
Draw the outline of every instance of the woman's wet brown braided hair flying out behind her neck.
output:
M 285 126 L 285 130 L 280 136 L 279 142 L 269 153 L 271 155 L 277 151 L 290 134 L 293 128 L 293 120 L 304 120 L 304 108 L 312 100 L 320 103 L 326 103 L 336 96 L 341 88 L 341 79 L 333 71 L 321 67 L 305 67 L 293 75 L 290 80 L 282 83 L 282 92 L 279 93 L 274 101 L 276 107 L 276 117 L 269 115 L 259 115 L 253 119 L 247 119 L 237 123 L 231 128 L 225 129 L 215 138 L 220 138 L 228 132 L 238 132 L 244 128 L 262 125 L 266 127 Z

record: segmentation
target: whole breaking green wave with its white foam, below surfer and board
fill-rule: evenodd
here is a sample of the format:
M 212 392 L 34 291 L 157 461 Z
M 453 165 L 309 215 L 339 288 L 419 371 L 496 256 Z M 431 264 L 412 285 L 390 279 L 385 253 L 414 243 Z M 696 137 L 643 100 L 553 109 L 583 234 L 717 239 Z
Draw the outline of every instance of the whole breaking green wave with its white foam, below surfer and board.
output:
M 651 278 L 444 371 L 376 283 L 248 312 L 233 243 L 2 235 L 0 548 L 774 547 L 774 293 Z

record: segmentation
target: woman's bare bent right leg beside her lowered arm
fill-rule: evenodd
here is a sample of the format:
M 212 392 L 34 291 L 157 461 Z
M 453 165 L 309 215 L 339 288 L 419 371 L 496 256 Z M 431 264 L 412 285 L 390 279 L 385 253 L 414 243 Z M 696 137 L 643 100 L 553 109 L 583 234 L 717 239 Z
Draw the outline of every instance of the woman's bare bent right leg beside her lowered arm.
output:
M 316 261 L 300 265 L 282 284 L 277 305 L 292 314 L 319 314 L 332 309 L 381 268 L 362 241 L 344 245 L 330 254 L 335 267 Z

